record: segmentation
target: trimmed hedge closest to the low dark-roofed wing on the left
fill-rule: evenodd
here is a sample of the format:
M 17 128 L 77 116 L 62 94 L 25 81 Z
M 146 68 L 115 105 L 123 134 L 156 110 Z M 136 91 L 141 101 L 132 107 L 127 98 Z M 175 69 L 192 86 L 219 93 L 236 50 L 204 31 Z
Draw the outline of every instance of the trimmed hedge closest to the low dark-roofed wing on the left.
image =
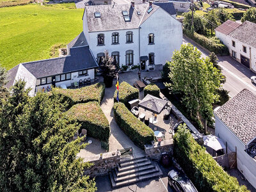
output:
M 62 102 L 67 101 L 69 107 L 77 103 L 85 103 L 90 101 L 97 101 L 100 103 L 104 97 L 105 84 L 100 82 L 74 90 L 52 88 L 52 92 L 63 96 Z

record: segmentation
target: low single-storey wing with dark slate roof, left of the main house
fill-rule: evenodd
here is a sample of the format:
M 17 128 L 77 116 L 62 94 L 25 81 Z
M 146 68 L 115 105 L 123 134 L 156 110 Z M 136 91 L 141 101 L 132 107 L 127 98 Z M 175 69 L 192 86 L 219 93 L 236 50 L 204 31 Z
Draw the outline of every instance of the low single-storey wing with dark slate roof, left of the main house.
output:
M 81 38 L 82 37 L 82 38 Z M 82 40 L 82 41 L 81 41 Z M 15 81 L 24 79 L 26 88 L 31 88 L 29 95 L 33 96 L 38 90 L 47 90 L 51 86 L 65 84 L 71 86 L 80 79 L 95 78 L 95 68 L 98 67 L 95 58 L 92 56 L 88 45 L 83 45 L 83 33 L 77 36 L 68 47 L 70 55 L 49 60 L 32 61 L 20 63 L 16 67 L 8 70 L 8 84 L 13 86 Z M 77 45 L 80 45 L 76 47 Z

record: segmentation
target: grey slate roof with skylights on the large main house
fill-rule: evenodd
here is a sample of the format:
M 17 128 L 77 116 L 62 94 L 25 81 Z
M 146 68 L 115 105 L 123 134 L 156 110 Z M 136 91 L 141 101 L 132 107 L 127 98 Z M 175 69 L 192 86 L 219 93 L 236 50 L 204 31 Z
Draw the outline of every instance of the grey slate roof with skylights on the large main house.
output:
M 122 29 L 138 29 L 140 24 L 150 17 L 159 6 L 153 4 L 153 10 L 147 13 L 148 3 L 135 4 L 134 9 L 130 4 L 105 4 L 86 6 L 85 12 L 88 20 L 88 31 L 112 31 Z M 131 21 L 125 22 L 122 11 L 129 12 Z M 95 18 L 94 13 L 100 12 L 100 18 Z M 137 15 L 140 12 L 141 15 Z

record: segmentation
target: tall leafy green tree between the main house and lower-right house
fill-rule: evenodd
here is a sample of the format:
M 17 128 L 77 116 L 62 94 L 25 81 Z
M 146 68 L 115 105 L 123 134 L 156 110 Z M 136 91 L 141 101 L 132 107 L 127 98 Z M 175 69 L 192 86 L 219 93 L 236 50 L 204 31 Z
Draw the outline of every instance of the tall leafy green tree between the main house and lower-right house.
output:
M 170 61 L 170 81 L 166 86 L 171 92 L 182 93 L 182 103 L 191 117 L 200 122 L 200 116 L 211 120 L 212 104 L 218 100 L 221 73 L 209 58 L 200 58 L 201 52 L 193 45 L 181 45 Z M 202 124 L 201 124 L 202 125 Z

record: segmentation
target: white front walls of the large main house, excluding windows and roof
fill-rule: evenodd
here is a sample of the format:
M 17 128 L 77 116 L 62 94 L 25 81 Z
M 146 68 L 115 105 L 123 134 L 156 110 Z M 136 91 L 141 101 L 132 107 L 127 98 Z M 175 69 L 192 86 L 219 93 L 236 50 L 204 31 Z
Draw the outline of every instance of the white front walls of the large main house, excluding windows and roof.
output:
M 154 53 L 154 65 L 148 65 L 146 61 L 145 70 L 155 68 L 155 65 L 164 65 L 166 61 L 170 61 L 173 51 L 179 50 L 182 44 L 182 24 L 173 18 L 162 8 L 152 13 L 147 20 L 140 24 L 136 29 L 124 29 L 113 31 L 88 32 L 86 12 L 83 18 L 84 36 L 88 42 L 93 56 L 97 59 L 97 55 L 108 51 L 119 52 L 119 65 L 126 65 L 125 52 L 133 51 L 133 65 L 140 65 L 140 57 L 148 56 Z M 126 33 L 132 32 L 132 43 L 126 42 Z M 112 44 L 112 33 L 118 33 L 118 44 Z M 154 44 L 148 44 L 148 35 L 154 34 Z M 104 34 L 104 45 L 97 45 L 97 36 Z

